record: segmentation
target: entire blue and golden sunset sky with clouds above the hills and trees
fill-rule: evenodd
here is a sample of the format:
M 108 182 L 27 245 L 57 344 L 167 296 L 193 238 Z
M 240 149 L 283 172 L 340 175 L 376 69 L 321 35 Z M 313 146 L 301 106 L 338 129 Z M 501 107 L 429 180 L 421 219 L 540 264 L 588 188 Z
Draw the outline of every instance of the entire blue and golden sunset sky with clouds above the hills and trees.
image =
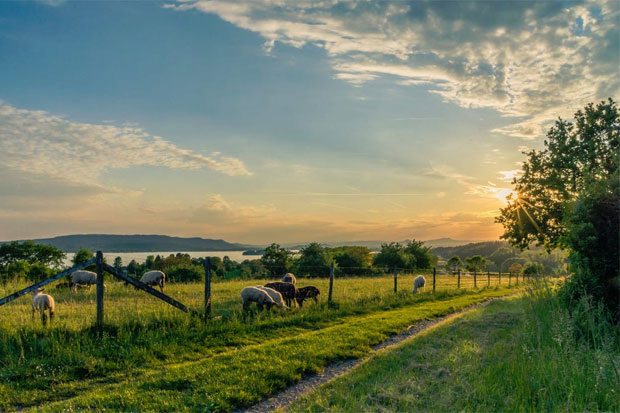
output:
M 0 240 L 497 239 L 615 1 L 0 1 Z

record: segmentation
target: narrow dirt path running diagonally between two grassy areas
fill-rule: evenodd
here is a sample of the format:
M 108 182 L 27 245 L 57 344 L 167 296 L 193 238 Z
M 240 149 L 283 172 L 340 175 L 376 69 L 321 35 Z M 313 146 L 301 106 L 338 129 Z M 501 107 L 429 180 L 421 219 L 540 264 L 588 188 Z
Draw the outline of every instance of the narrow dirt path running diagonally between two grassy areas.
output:
M 310 392 L 314 391 L 316 388 L 330 382 L 331 380 L 337 378 L 338 376 L 349 373 L 353 369 L 357 368 L 359 365 L 365 363 L 370 358 L 372 358 L 378 351 L 381 351 L 383 349 L 389 349 L 390 347 L 398 345 L 405 340 L 411 339 L 419 335 L 422 332 L 430 330 L 433 327 L 437 327 L 440 324 L 444 324 L 455 318 L 461 317 L 463 314 L 466 314 L 478 308 L 484 307 L 493 301 L 504 300 L 506 298 L 513 297 L 519 294 L 521 293 L 519 292 L 517 294 L 511 294 L 511 295 L 507 295 L 504 297 L 491 298 L 489 300 L 482 301 L 477 304 L 473 304 L 467 308 L 464 308 L 463 310 L 457 311 L 455 313 L 452 313 L 452 314 L 449 314 L 443 317 L 417 322 L 409 326 L 409 328 L 406 331 L 400 334 L 395 334 L 389 339 L 387 339 L 386 341 L 384 341 L 383 343 L 373 346 L 372 347 L 373 351 L 367 357 L 363 359 L 347 360 L 347 361 L 343 361 L 340 363 L 332 364 L 331 366 L 326 367 L 325 370 L 323 370 L 321 374 L 304 378 L 299 383 L 291 387 L 288 387 L 287 389 L 282 390 L 280 393 L 277 393 L 271 397 L 265 398 L 263 399 L 263 401 L 261 401 L 258 404 L 255 404 L 252 407 L 237 410 L 236 412 L 237 413 L 238 412 L 263 413 L 263 412 L 271 412 L 276 409 L 285 409 L 295 400 L 309 394 Z

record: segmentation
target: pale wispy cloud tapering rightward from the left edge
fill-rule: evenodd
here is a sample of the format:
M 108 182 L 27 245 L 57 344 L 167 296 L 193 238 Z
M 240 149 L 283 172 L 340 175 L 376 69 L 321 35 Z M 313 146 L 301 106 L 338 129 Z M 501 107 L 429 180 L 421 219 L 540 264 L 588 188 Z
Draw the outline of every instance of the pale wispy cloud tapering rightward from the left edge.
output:
M 99 186 L 105 171 L 139 165 L 250 175 L 243 162 L 180 148 L 137 127 L 74 122 L 0 101 L 0 169 L 71 186 Z

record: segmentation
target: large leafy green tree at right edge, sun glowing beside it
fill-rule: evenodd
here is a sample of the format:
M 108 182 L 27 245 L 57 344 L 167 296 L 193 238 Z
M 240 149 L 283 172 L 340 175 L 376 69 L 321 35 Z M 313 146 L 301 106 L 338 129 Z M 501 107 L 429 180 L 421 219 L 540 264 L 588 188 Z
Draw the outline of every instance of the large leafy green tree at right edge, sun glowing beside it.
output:
M 618 317 L 619 150 L 613 100 L 587 105 L 574 122 L 559 119 L 544 149 L 527 153 L 523 174 L 513 181 L 516 195 L 496 218 L 502 238 L 514 246 L 568 249 L 575 273 L 563 296 L 574 302 L 585 293 Z

